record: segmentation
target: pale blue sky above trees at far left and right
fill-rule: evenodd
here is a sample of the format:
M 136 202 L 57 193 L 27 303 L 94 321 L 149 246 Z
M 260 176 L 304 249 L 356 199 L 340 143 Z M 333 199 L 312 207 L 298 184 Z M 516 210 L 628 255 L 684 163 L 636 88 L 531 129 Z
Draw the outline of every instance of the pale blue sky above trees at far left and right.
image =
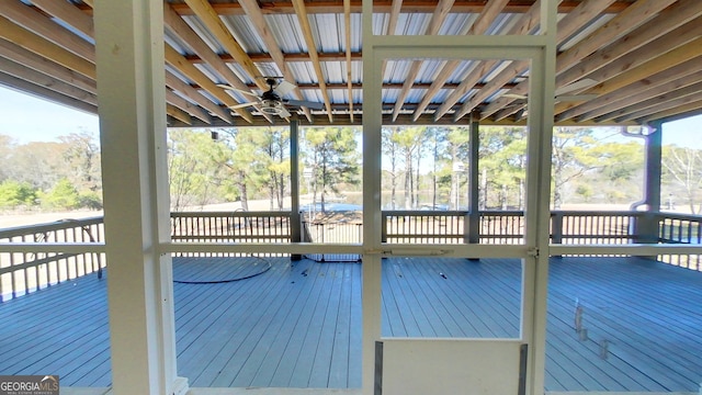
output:
M 18 144 L 58 142 L 59 136 L 88 132 L 98 139 L 98 116 L 0 86 L 0 134 Z M 702 148 L 702 115 L 665 123 L 664 145 Z

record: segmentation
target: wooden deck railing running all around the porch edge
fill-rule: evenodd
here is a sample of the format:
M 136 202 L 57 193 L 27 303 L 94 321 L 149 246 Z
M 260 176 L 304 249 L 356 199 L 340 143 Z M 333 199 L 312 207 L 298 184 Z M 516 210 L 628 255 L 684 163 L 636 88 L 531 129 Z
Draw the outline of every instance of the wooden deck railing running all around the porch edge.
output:
M 360 212 L 302 213 L 302 241 L 360 244 Z M 171 214 L 173 242 L 291 242 L 294 234 L 290 212 L 189 212 Z M 524 242 L 523 212 L 384 211 L 384 242 L 519 245 Z M 1 242 L 104 242 L 103 218 L 67 219 L 0 230 Z M 472 222 L 477 221 L 477 224 Z M 648 228 L 646 228 L 648 227 Z M 653 232 L 650 228 L 653 227 Z M 471 232 L 477 235 L 472 235 Z M 656 234 L 657 230 L 657 235 Z M 644 233 L 654 234 L 644 237 Z M 551 215 L 553 244 L 625 245 L 631 242 L 702 244 L 702 216 L 643 212 L 566 212 Z M 189 256 L 238 256 L 236 253 L 188 253 Z M 318 260 L 358 260 L 358 256 L 310 257 Z M 701 255 L 660 255 L 658 260 L 702 270 Z M 2 252 L 0 250 L 0 300 L 20 296 L 77 276 L 98 272 L 103 255 Z

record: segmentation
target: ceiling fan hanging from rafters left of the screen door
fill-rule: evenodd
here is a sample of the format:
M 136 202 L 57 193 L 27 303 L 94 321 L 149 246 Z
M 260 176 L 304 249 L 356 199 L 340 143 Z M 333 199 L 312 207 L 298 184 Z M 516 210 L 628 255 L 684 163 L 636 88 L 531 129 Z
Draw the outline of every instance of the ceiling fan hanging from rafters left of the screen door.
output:
M 217 84 L 217 86 L 219 88 L 237 91 L 237 92 L 248 94 L 258 99 L 257 101 L 233 105 L 229 109 L 242 109 L 246 106 L 258 104 L 260 105 L 260 111 L 262 113 L 279 115 L 280 117 L 285 119 L 291 115 L 290 111 L 287 111 L 287 108 L 286 108 L 287 105 L 306 106 L 313 110 L 321 110 L 325 106 L 324 103 L 319 103 L 319 102 L 283 99 L 285 94 L 290 93 L 293 89 L 296 88 L 295 84 L 287 82 L 280 77 L 263 77 L 263 78 L 265 79 L 265 83 L 270 87 L 270 89 L 261 93 L 261 95 L 258 95 L 241 89 L 237 89 L 228 84 Z

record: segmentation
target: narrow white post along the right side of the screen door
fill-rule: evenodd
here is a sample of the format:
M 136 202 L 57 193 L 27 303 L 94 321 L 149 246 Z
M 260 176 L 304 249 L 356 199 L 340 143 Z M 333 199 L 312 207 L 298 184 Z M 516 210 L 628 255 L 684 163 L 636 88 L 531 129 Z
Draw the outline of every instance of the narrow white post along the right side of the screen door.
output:
M 524 239 L 533 257 L 522 263 L 522 338 L 530 345 L 526 393 L 531 395 L 544 393 L 557 5 L 557 1 L 541 3 L 545 41 L 530 76 Z

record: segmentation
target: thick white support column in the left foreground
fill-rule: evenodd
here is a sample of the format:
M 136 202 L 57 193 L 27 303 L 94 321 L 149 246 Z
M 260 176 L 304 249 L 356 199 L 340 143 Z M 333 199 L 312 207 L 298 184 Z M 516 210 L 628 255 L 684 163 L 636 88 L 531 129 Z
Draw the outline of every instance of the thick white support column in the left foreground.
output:
M 163 3 L 97 0 L 98 97 L 116 395 L 184 394 L 177 377 L 163 91 Z

